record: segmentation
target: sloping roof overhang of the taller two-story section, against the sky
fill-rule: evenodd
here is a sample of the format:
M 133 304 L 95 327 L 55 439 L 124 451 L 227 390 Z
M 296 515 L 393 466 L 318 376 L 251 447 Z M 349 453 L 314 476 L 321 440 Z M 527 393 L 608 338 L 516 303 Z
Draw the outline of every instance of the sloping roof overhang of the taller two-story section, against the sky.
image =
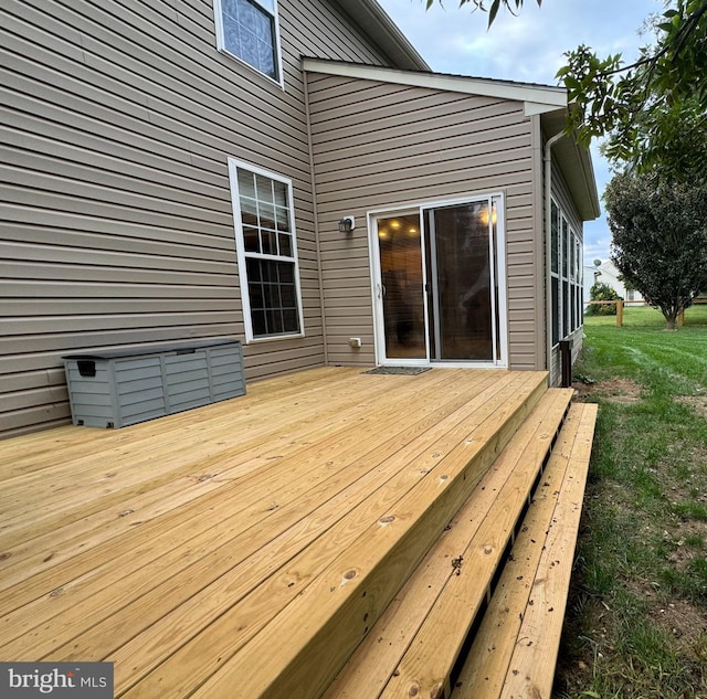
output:
M 335 0 L 400 68 L 429 71 L 430 66 L 376 0 Z

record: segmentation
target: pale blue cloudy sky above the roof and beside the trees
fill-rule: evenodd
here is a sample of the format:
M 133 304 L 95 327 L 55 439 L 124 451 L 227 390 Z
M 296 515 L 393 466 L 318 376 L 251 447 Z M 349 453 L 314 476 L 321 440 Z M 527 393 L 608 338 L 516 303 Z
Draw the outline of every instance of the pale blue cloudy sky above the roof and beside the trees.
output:
M 458 0 L 439 0 L 425 10 L 424 0 L 379 0 L 418 53 L 439 73 L 495 77 L 557 85 L 563 53 L 580 44 L 600 57 L 621 53 L 632 62 L 639 47 L 651 43 L 640 35 L 645 19 L 662 12 L 662 0 L 525 0 L 517 17 L 500 10 L 490 29 L 488 15 L 460 8 Z M 592 144 L 599 195 L 611 179 L 608 163 Z M 609 257 L 611 232 L 603 205 L 597 221 L 584 223 L 584 264 Z

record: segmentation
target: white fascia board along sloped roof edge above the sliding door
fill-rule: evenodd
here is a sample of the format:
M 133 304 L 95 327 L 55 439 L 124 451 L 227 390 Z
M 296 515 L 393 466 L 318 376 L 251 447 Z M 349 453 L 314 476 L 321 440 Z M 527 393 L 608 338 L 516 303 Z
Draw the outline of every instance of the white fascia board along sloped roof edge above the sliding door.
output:
M 465 77 L 463 75 L 399 71 L 395 68 L 381 68 L 374 65 L 338 63 L 318 59 L 303 59 L 302 67 L 310 73 L 325 73 L 340 77 L 378 81 L 380 83 L 393 83 L 411 87 L 426 87 L 429 89 L 481 95 L 498 99 L 513 99 L 528 103 L 527 108 L 529 106 L 535 109 L 535 112 L 529 112 L 528 115 L 542 114 L 558 107 L 567 107 L 567 91 L 562 87 L 524 85 L 479 77 Z

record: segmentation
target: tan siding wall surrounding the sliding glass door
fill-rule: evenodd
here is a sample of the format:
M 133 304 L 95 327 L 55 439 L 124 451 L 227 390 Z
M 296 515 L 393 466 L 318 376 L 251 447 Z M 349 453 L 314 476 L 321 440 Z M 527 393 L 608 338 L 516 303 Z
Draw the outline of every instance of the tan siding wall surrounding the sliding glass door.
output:
M 537 369 L 531 119 L 517 102 L 307 74 L 328 358 L 374 361 L 367 212 L 478 192 L 506 197 L 510 369 Z M 351 214 L 356 230 L 338 232 Z M 360 350 L 348 338 L 360 337 Z

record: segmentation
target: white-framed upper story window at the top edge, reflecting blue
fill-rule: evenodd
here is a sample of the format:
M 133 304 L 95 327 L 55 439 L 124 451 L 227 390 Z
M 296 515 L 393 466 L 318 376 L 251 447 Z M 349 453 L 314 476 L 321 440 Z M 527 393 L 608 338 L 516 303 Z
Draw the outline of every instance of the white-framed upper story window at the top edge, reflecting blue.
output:
M 213 0 L 217 45 L 281 82 L 276 0 Z

